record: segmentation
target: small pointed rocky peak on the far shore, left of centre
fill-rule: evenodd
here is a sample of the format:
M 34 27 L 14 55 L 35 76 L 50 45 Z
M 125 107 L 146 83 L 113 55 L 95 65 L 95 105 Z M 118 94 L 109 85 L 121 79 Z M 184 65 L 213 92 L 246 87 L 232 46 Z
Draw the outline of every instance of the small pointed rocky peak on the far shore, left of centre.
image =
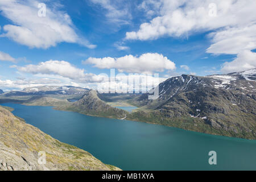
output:
M 86 115 L 95 115 L 108 118 L 124 118 L 127 112 L 106 104 L 99 97 L 100 93 L 96 90 L 90 90 L 84 94 L 80 100 L 72 102 L 68 105 L 61 105 L 56 107 L 60 110 L 75 111 Z

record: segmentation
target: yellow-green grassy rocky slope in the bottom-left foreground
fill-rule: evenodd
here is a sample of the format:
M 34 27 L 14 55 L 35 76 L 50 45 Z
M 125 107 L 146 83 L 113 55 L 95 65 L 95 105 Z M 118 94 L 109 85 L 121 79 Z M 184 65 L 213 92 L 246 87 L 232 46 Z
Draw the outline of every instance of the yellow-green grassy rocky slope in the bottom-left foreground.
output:
M 1 170 L 120 170 L 94 158 L 89 152 L 59 142 L 0 106 Z M 46 164 L 38 152 L 46 152 Z

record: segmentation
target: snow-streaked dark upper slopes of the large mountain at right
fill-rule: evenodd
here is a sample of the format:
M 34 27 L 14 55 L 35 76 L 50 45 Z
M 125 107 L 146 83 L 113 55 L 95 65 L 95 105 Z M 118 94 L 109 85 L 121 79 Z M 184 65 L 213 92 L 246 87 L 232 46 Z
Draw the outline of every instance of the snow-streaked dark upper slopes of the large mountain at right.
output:
M 148 93 L 142 94 L 138 99 L 140 105 L 156 106 L 169 100 L 175 94 L 181 92 L 195 92 L 198 89 L 214 88 L 230 90 L 241 94 L 255 95 L 256 92 L 256 69 L 248 71 L 229 73 L 226 75 L 193 76 L 181 75 L 168 78 L 159 84 L 159 97 L 156 101 L 148 100 Z M 153 106 L 153 107 L 154 107 Z

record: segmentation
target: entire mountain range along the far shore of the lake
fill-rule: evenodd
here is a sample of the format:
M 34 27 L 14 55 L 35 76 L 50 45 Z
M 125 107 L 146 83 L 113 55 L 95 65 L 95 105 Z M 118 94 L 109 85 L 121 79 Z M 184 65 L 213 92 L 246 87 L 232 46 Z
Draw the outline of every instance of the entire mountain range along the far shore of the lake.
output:
M 100 94 L 82 88 L 28 88 L 30 97 L 15 100 L 14 92 L 2 94 L 0 102 L 48 105 L 55 109 L 76 111 L 99 117 L 156 123 L 202 133 L 256 139 L 256 69 L 226 75 L 181 75 L 159 84 L 159 97 L 148 100 L 145 94 Z M 46 89 L 47 88 L 47 89 Z M 76 90 L 61 94 L 64 89 Z M 39 94 L 51 93 L 51 94 Z M 55 93 L 55 94 L 52 94 Z M 61 92 L 62 93 L 62 92 Z M 77 98 L 69 102 L 69 97 Z M 9 99 L 11 98 L 11 99 Z M 137 106 L 131 113 L 113 105 Z

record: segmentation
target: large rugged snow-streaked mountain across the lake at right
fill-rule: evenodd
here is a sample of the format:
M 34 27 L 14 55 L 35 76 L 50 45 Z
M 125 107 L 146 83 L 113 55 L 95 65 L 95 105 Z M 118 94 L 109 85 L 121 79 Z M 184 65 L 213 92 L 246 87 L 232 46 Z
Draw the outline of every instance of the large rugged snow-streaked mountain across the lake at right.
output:
M 256 69 L 227 75 L 172 77 L 133 101 L 141 110 L 127 119 L 203 133 L 256 139 Z

